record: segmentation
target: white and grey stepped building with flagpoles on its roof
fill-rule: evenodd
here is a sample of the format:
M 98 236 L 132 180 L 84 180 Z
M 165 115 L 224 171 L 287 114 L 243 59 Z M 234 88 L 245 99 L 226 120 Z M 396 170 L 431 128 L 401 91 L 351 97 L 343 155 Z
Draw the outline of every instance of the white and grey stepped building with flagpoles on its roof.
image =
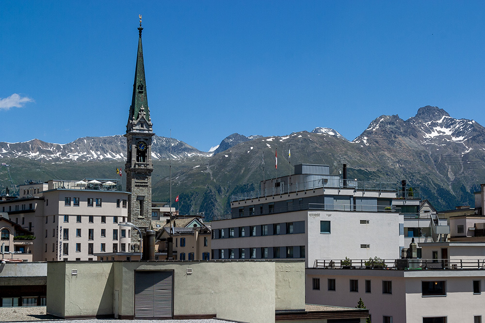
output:
M 341 176 L 299 164 L 294 175 L 231 196 L 231 214 L 211 223 L 212 258 L 305 258 L 311 267 L 316 259 L 400 257 L 419 188 L 346 177 L 345 165 Z

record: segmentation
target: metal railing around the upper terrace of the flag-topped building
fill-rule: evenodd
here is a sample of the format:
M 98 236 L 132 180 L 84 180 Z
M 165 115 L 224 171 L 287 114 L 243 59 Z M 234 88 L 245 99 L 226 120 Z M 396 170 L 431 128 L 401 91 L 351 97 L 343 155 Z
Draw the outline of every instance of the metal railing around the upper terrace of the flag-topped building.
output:
M 231 202 L 244 201 L 249 199 L 275 196 L 281 194 L 290 194 L 296 192 L 305 192 L 307 190 L 315 190 L 318 188 L 351 188 L 358 191 L 373 191 L 373 192 L 396 192 L 397 198 L 403 199 L 420 199 L 421 190 L 419 187 L 407 187 L 406 191 L 402 192 L 402 187 L 397 183 L 389 182 L 367 182 L 350 179 L 332 180 L 325 178 L 315 179 L 307 182 L 287 184 L 278 187 L 266 188 L 252 192 L 231 195 Z

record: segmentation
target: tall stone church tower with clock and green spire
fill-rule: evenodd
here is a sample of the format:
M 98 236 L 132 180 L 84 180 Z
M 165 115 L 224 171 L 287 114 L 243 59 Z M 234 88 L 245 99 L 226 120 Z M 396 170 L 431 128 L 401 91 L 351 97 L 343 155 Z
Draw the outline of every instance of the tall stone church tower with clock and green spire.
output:
M 149 227 L 151 221 L 151 173 L 153 172 L 151 144 L 154 133 L 146 98 L 142 30 L 140 16 L 133 97 L 125 134 L 127 139 L 125 173 L 126 190 L 131 193 L 128 196 L 128 221 L 143 232 Z M 134 247 L 139 244 L 139 234 L 136 230 L 131 232 L 131 245 Z

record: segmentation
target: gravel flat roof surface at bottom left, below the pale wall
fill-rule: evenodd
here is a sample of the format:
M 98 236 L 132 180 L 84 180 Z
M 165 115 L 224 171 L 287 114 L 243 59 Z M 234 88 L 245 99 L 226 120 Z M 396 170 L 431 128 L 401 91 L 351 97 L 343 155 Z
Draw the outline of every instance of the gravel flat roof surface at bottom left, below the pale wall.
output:
M 0 322 L 32 322 L 42 321 L 43 323 L 59 323 L 64 321 L 55 316 L 46 314 L 45 306 L 38 307 L 0 307 Z M 90 320 L 69 320 L 67 323 L 120 323 L 120 320 L 113 319 L 90 319 Z M 129 320 L 129 323 L 225 323 L 227 321 L 209 320 Z M 230 322 L 230 321 L 229 321 Z

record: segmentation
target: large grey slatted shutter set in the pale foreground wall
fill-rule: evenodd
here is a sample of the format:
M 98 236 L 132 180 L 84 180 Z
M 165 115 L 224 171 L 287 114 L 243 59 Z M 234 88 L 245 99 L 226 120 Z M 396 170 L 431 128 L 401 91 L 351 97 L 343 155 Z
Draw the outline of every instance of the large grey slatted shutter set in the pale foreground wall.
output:
M 173 281 L 173 271 L 135 271 L 135 318 L 172 318 Z

